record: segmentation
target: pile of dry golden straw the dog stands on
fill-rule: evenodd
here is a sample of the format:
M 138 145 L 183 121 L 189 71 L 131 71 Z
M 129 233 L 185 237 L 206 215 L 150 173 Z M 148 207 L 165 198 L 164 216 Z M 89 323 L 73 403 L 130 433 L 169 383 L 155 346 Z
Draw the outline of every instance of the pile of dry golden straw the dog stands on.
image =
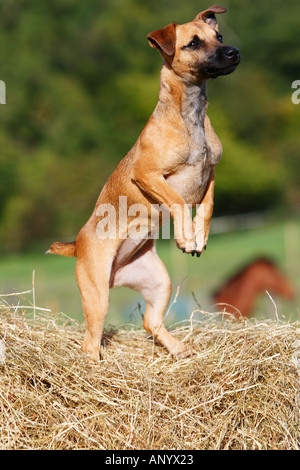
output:
M 80 350 L 63 315 L 0 314 L 0 449 L 299 449 L 300 325 L 197 312 L 175 360 L 144 331 Z

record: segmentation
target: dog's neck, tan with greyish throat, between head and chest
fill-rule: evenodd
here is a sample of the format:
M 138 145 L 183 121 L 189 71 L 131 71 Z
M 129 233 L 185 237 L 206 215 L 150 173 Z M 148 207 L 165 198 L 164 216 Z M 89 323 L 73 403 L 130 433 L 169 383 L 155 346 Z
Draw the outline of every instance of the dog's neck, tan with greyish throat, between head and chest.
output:
M 203 127 L 207 108 L 206 81 L 186 84 L 170 67 L 163 65 L 159 103 L 179 113 L 188 128 L 196 123 Z

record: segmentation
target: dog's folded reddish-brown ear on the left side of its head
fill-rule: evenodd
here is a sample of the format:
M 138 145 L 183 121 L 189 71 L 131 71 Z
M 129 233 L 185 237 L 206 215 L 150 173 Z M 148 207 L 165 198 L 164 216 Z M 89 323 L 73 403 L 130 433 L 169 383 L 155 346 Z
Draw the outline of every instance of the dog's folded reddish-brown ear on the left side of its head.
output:
M 147 36 L 151 47 L 159 50 L 162 56 L 170 62 L 175 54 L 177 23 L 171 23 L 162 29 L 157 29 Z

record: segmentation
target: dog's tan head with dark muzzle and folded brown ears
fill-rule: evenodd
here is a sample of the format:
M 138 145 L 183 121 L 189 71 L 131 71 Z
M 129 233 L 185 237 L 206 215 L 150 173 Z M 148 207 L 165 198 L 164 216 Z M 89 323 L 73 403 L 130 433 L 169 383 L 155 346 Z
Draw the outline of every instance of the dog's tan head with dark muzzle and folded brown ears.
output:
M 240 63 L 240 53 L 237 48 L 223 44 L 215 14 L 225 12 L 225 8 L 213 5 L 192 22 L 171 23 L 148 34 L 147 39 L 186 82 L 228 75 Z

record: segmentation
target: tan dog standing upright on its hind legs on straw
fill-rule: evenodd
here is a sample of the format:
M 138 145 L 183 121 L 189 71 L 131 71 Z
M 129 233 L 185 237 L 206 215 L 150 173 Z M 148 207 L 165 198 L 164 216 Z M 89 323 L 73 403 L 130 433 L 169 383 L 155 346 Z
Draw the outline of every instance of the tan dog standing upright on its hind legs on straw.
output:
M 206 115 L 206 82 L 233 72 L 240 61 L 238 49 L 223 45 L 218 32 L 215 13 L 225 11 L 214 5 L 190 23 L 172 23 L 148 35 L 150 45 L 164 59 L 158 104 L 136 144 L 103 187 L 76 242 L 56 242 L 49 250 L 77 256 L 76 279 L 86 322 L 83 350 L 95 360 L 99 360 L 109 288 L 114 286 L 140 292 L 146 302 L 145 329 L 171 354 L 188 354 L 163 323 L 171 282 L 156 253 L 153 234 L 161 223 L 163 207 L 174 220 L 176 243 L 183 252 L 200 256 L 207 243 L 214 167 L 222 146 Z M 126 196 L 129 218 L 120 196 Z M 140 235 L 135 230 L 131 237 L 136 218 L 130 209 L 136 204 L 145 211 L 139 217 Z M 194 220 L 188 204 L 199 205 Z M 110 207 L 118 230 L 109 219 L 104 234 L 101 224 Z

